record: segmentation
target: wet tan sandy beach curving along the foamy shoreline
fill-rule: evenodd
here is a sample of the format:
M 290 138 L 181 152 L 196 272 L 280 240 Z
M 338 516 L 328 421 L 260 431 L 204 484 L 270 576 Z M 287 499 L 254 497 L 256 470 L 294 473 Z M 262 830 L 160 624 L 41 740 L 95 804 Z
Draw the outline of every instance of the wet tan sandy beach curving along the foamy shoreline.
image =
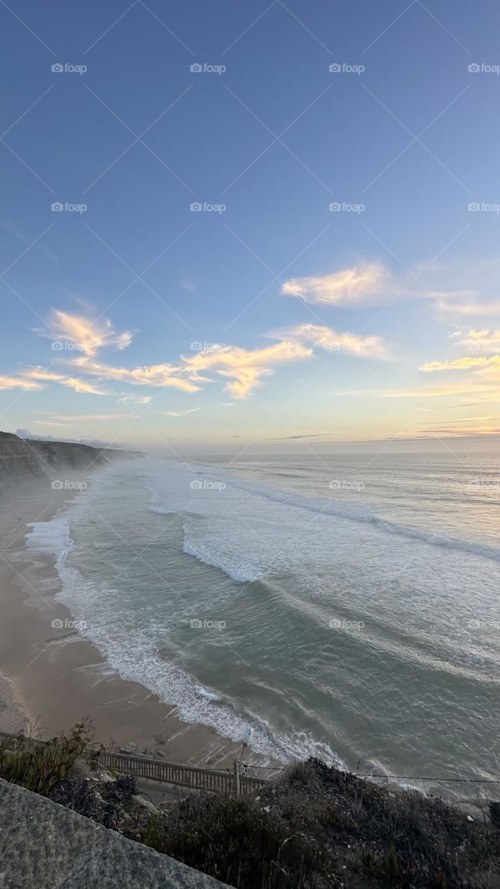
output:
M 0 730 L 46 738 L 86 717 L 96 741 L 114 749 L 230 765 L 239 744 L 181 722 L 146 688 L 122 680 L 71 628 L 71 614 L 54 598 L 60 581 L 52 559 L 34 557 L 25 540 L 28 522 L 48 521 L 76 496 L 52 490 L 47 479 L 0 501 Z

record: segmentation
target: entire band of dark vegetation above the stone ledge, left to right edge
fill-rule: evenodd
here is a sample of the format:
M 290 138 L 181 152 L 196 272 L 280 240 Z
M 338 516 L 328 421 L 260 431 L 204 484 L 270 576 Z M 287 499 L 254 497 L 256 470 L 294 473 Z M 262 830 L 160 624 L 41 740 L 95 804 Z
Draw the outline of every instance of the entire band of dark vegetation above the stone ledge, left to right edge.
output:
M 102 773 L 85 724 L 0 748 L 0 777 L 237 889 L 497 889 L 500 805 L 487 821 L 319 760 L 253 796 L 192 794 L 157 812 Z M 478 810 L 479 812 L 479 810 Z

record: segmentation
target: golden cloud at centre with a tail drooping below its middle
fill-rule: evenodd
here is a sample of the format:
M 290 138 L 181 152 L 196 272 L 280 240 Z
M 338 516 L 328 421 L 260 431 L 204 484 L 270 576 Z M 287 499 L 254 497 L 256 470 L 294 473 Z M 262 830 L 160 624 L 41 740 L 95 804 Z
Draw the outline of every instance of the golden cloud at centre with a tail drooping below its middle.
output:
M 262 385 L 262 377 L 274 372 L 278 364 L 309 358 L 312 349 L 300 342 L 283 340 L 274 346 L 245 349 L 237 346 L 218 346 L 205 349 L 194 356 L 182 356 L 186 369 L 198 379 L 200 371 L 213 370 L 230 378 L 224 387 L 233 398 L 245 398 L 252 389 Z M 204 379 L 204 378 L 201 378 Z

